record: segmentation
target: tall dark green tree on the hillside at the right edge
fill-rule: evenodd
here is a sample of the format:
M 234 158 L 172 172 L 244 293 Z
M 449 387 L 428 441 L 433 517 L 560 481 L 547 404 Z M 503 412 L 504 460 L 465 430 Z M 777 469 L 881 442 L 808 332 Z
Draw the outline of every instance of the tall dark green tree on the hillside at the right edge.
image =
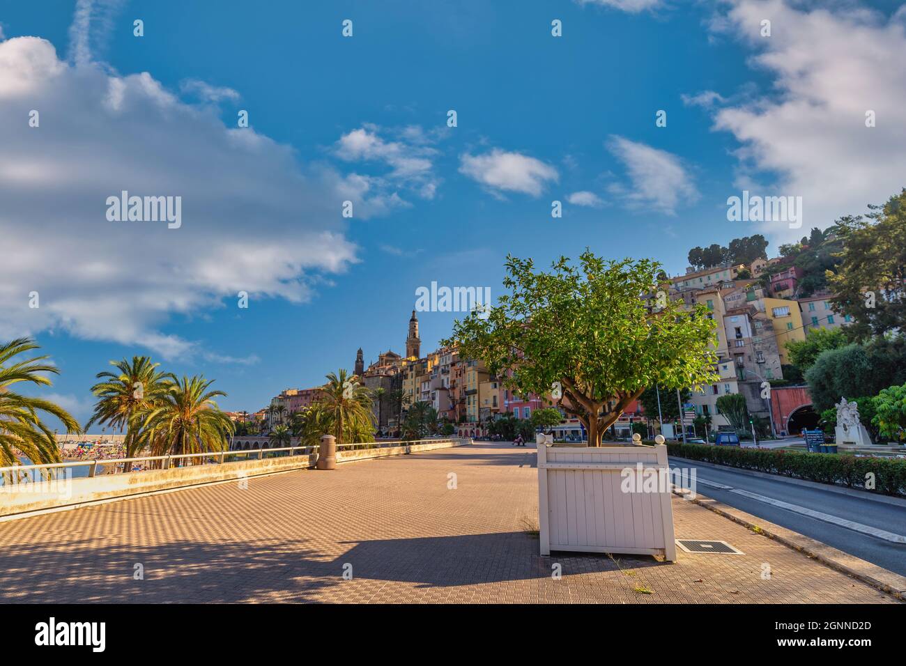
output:
M 906 189 L 869 209 L 837 221 L 841 263 L 827 273 L 834 306 L 853 317 L 848 333 L 857 339 L 899 331 L 906 322 Z

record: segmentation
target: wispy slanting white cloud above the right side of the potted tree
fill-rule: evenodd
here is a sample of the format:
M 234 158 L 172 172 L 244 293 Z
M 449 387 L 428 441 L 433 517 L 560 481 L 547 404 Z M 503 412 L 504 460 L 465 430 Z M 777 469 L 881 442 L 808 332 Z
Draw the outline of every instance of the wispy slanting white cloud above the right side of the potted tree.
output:
M 620 136 L 612 136 L 607 147 L 622 161 L 631 180 L 629 188 L 614 183 L 609 189 L 623 198 L 629 208 L 675 215 L 680 204 L 699 198 L 692 178 L 676 155 Z

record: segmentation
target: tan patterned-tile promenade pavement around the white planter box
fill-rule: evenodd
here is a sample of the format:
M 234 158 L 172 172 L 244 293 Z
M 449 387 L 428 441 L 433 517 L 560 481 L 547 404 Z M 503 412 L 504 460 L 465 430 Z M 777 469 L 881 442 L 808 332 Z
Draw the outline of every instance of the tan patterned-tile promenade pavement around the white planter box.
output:
M 678 538 L 745 555 L 542 558 L 536 478 L 477 444 L 0 523 L 0 602 L 896 603 L 676 497 Z

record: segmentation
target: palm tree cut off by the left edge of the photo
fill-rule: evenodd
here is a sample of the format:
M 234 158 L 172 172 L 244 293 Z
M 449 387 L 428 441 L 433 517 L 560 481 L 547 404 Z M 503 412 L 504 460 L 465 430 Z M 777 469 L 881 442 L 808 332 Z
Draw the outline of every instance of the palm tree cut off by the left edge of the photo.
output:
M 60 372 L 56 366 L 43 362 L 47 356 L 14 361 L 18 354 L 34 349 L 39 347 L 31 338 L 17 338 L 0 344 L 0 467 L 20 464 L 15 449 L 35 465 L 61 461 L 60 448 L 53 437 L 53 430 L 43 422 L 39 411 L 45 411 L 59 419 L 68 433 L 82 432 L 78 421 L 62 407 L 51 401 L 30 398 L 9 390 L 10 386 L 19 381 L 28 381 L 38 386 L 53 385 L 52 381 L 39 374 Z

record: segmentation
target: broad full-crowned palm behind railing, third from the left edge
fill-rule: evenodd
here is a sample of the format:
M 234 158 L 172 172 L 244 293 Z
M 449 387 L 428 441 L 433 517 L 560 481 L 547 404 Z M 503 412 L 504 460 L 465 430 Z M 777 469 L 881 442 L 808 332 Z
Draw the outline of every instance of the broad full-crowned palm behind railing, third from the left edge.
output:
M 142 421 L 140 444 L 148 446 L 154 456 L 228 449 L 233 421 L 213 400 L 226 393 L 209 391 L 212 383 L 204 377 L 183 376 L 172 384 Z

